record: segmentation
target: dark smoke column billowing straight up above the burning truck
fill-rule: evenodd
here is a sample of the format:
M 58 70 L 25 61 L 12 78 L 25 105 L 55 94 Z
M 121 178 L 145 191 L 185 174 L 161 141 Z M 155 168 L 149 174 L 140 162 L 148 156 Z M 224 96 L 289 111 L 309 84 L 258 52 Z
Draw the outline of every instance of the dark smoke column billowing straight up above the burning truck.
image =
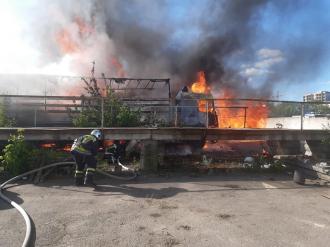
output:
M 260 0 L 204 1 L 200 13 L 188 11 L 183 18 L 186 25 L 191 21 L 199 34 L 193 42 L 178 49 L 169 45 L 173 32 L 180 28 L 173 26 L 172 13 L 166 13 L 166 4 L 173 1 L 154 1 L 157 4 L 152 6 L 150 2 L 99 1 L 96 5 L 102 6 L 99 9 L 104 10 L 107 34 L 133 76 L 165 74 L 174 78 L 180 87 L 194 81 L 201 70 L 205 71 L 210 83 L 226 84 L 224 79 L 233 73 L 226 68 L 225 59 L 249 46 L 255 32 L 253 18 L 267 3 Z M 191 7 L 197 2 L 191 1 Z M 236 79 L 231 86 L 243 86 L 244 79 Z

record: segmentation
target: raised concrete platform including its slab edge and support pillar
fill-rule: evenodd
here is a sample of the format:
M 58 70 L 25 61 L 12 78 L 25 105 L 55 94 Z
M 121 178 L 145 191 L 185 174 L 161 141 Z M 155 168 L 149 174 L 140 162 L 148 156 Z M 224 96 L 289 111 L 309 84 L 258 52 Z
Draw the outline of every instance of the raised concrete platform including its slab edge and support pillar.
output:
M 18 128 L 0 128 L 0 141 L 7 141 Z M 72 141 L 88 134 L 91 128 L 24 128 L 28 141 Z M 330 158 L 328 147 L 322 144 L 326 130 L 292 129 L 211 129 L 211 128 L 104 128 L 105 139 L 141 140 L 140 167 L 157 170 L 162 162 L 166 142 L 205 140 L 264 140 L 277 155 L 301 155 L 310 150 L 314 157 Z M 306 145 L 308 149 L 306 149 Z

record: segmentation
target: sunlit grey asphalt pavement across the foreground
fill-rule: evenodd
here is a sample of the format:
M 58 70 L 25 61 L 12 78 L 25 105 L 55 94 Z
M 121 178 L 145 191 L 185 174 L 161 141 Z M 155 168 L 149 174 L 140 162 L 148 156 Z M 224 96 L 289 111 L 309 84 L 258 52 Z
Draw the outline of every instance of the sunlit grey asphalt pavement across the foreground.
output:
M 6 192 L 28 211 L 35 246 L 329 246 L 330 190 L 274 175 L 70 179 Z M 327 198 L 328 197 L 328 198 Z M 24 221 L 0 201 L 0 246 L 20 246 Z

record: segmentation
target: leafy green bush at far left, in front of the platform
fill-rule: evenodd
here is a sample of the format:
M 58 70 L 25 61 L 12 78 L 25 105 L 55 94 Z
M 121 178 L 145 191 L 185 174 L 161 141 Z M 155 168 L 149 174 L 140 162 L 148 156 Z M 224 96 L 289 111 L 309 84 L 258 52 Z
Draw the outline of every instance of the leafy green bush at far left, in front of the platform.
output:
M 23 131 L 18 130 L 16 135 L 11 135 L 8 142 L 3 156 L 0 156 L 4 170 L 12 176 L 28 171 L 32 147 L 24 141 Z

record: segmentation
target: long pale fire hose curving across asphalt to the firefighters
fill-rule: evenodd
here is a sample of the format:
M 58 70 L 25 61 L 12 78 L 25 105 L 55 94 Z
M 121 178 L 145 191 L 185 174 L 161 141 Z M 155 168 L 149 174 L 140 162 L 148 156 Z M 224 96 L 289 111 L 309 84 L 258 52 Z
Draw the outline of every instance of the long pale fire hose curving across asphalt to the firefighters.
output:
M 5 186 L 8 185 L 8 184 L 14 183 L 15 181 L 17 181 L 19 179 L 22 179 L 25 176 L 31 175 L 31 174 L 36 173 L 36 172 L 41 171 L 41 170 L 49 169 L 49 168 L 56 167 L 56 166 L 67 166 L 67 165 L 75 165 L 75 164 L 76 163 L 75 162 L 72 162 L 72 161 L 53 163 L 53 164 L 50 164 L 50 165 L 46 165 L 46 166 L 43 166 L 43 167 L 40 167 L 40 168 L 31 170 L 31 171 L 28 171 L 28 172 L 25 172 L 25 173 L 23 173 L 21 175 L 18 175 L 16 177 L 13 177 L 13 178 L 5 181 L 4 183 L 2 183 L 0 185 L 0 198 L 2 200 L 4 200 L 5 202 L 7 202 L 8 204 L 10 204 L 11 206 L 13 206 L 15 209 L 17 209 L 17 211 L 24 218 L 25 225 L 26 225 L 26 231 L 25 231 L 25 238 L 24 238 L 24 241 L 22 243 L 22 247 L 29 246 L 29 243 L 30 243 L 30 240 L 31 240 L 31 233 L 32 233 L 31 219 L 30 219 L 30 216 L 28 215 L 28 213 L 24 210 L 24 208 L 22 208 L 16 202 L 10 200 L 8 197 L 6 197 L 2 193 L 2 191 L 5 190 Z M 121 166 L 124 170 L 130 170 L 129 168 L 127 168 L 126 166 L 124 166 L 123 164 L 121 164 L 119 160 L 118 160 L 118 165 Z M 100 173 L 102 175 L 105 175 L 107 177 L 110 177 L 110 178 L 115 178 L 115 179 L 120 179 L 120 180 L 126 180 L 126 181 L 135 179 L 137 177 L 137 173 L 136 172 L 134 172 L 134 175 L 131 176 L 131 177 L 116 176 L 116 175 L 113 175 L 113 174 L 109 174 L 107 172 L 103 172 L 103 171 L 101 171 L 99 169 L 96 169 L 96 172 L 98 172 L 98 173 Z

